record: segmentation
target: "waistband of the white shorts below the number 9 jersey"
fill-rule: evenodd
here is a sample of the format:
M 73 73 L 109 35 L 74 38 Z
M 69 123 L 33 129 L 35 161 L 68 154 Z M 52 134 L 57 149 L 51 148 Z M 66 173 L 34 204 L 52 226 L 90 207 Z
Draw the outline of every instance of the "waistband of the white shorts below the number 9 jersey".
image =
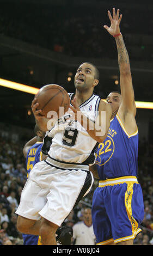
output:
M 47 157 L 45 160 L 46 163 L 51 164 L 51 166 L 54 166 L 59 169 L 81 169 L 81 170 L 89 170 L 89 166 L 83 165 L 83 164 L 71 164 L 71 163 L 63 163 L 60 161 L 56 161 L 54 159 L 51 159 L 50 157 Z

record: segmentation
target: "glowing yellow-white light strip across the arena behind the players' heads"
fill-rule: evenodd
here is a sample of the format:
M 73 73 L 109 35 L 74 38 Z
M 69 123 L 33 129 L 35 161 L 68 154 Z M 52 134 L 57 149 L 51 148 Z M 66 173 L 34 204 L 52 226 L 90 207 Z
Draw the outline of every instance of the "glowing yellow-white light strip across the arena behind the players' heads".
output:
M 39 91 L 39 88 L 26 86 L 25 84 L 16 83 L 16 82 L 8 81 L 1 78 L 0 78 L 0 86 L 7 87 L 14 90 L 20 90 L 21 92 L 34 94 L 34 95 L 37 94 Z M 136 101 L 136 107 L 153 109 L 153 102 Z

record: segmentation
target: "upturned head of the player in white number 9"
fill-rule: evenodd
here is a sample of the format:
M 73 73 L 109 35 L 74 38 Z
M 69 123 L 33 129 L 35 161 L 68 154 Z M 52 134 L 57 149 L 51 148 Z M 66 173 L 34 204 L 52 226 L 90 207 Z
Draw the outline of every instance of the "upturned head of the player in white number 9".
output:
M 95 68 L 89 63 L 83 63 L 77 69 L 75 75 L 75 87 L 78 90 L 87 90 L 93 88 L 98 84 L 95 79 Z

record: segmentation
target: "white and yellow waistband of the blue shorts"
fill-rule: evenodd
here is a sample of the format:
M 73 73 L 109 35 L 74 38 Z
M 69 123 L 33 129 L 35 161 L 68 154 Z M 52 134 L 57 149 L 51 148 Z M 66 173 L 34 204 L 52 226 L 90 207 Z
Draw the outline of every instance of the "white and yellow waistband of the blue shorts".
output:
M 123 176 L 123 177 L 114 178 L 114 179 L 100 180 L 99 187 L 113 186 L 113 185 L 123 184 L 127 182 L 133 182 L 133 183 L 139 184 L 136 176 Z

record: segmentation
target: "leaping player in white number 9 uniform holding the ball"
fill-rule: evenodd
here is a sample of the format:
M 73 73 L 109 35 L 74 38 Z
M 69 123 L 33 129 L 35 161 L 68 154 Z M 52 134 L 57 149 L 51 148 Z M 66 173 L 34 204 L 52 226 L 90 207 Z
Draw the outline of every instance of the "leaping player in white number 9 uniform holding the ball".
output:
M 69 94 L 71 112 L 58 119 L 50 131 L 48 119 L 37 110 L 39 103 L 36 99 L 32 102 L 36 123 L 46 131 L 42 153 L 47 159 L 35 164 L 30 172 L 16 214 L 17 228 L 22 233 L 41 235 L 42 245 L 56 245 L 57 228 L 93 185 L 89 164 L 95 161 L 97 143 L 107 136 L 112 115 L 112 107 L 93 94 L 98 83 L 96 67 L 91 63 L 80 65 L 75 75 L 76 92 Z

